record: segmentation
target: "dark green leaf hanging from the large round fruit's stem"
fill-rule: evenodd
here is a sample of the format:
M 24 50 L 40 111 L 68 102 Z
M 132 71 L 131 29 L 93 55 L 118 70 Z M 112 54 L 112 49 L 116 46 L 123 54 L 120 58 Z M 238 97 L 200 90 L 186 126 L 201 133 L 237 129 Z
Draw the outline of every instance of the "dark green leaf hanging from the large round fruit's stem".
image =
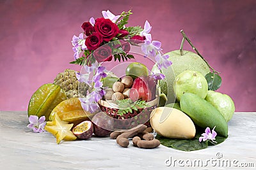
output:
M 208 83 L 208 90 L 217 90 L 221 85 L 221 77 L 216 73 L 208 73 L 205 75 L 205 79 Z

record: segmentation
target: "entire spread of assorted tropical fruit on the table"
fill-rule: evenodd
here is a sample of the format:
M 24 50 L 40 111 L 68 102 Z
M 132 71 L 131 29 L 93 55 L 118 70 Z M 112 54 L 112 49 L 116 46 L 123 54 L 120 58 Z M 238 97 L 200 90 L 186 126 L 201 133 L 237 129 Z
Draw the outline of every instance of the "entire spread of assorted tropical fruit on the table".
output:
M 45 131 L 56 137 L 58 144 L 62 140 L 89 139 L 93 134 L 110 136 L 122 147 L 129 146 L 131 138 L 140 148 L 156 148 L 161 143 L 186 151 L 205 148 L 208 141 L 221 143 L 228 136 L 227 122 L 235 105 L 229 96 L 216 92 L 221 85 L 220 73 L 198 50 L 196 53 L 182 50 L 182 45 L 180 50 L 167 53 L 172 69 L 158 70 L 157 64 L 152 68 L 152 73 L 164 74 L 164 80 L 157 81 L 138 62 L 127 66 L 125 76 L 100 77 L 104 95 L 99 97 L 100 111 L 95 113 L 82 108 L 79 100 L 86 95 L 88 85 L 77 80 L 76 71 L 66 69 L 54 83 L 36 90 L 29 101 L 28 115 L 44 116 Z M 122 123 L 116 124 L 116 120 Z M 127 131 L 120 130 L 127 127 Z M 147 127 L 157 132 L 157 139 L 145 130 Z

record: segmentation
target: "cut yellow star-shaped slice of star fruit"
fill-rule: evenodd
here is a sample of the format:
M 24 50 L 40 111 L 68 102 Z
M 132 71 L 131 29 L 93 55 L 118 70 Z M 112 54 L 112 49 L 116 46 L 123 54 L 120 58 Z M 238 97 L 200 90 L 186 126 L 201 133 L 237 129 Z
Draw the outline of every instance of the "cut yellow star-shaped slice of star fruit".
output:
M 56 114 L 52 122 L 47 122 L 44 129 L 53 134 L 53 136 L 56 137 L 56 143 L 59 144 L 63 139 L 66 141 L 76 140 L 76 136 L 70 131 L 73 125 L 74 124 L 61 121 L 60 117 Z

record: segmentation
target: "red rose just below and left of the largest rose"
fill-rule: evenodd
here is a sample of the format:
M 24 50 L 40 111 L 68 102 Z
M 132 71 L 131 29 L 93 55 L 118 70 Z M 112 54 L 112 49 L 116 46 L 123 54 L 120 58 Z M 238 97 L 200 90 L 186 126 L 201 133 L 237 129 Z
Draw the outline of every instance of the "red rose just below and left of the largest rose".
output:
M 92 35 L 85 39 L 85 45 L 87 46 L 88 50 L 96 50 L 102 41 L 102 36 L 98 34 L 98 32 L 93 32 Z

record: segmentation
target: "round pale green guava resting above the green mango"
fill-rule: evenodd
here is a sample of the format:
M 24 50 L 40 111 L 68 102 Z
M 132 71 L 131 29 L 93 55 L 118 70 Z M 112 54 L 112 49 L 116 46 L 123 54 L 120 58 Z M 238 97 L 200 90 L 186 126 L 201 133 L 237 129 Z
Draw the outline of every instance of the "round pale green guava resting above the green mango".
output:
M 196 94 L 204 99 L 208 92 L 208 84 L 201 73 L 186 70 L 175 78 L 175 81 L 173 82 L 173 90 L 178 101 L 180 101 L 180 97 L 186 92 Z

